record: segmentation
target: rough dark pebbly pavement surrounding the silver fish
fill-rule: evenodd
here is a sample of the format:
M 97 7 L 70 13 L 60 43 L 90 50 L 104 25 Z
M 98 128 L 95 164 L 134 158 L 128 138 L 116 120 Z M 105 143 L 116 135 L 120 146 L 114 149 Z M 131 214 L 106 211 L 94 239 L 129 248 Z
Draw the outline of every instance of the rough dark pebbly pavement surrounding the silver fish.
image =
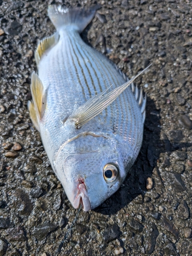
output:
M 148 94 L 139 156 L 117 193 L 80 210 L 71 229 L 77 210 L 27 109 L 33 52 L 54 32 L 50 3 L 100 4 L 84 40 L 130 77 L 153 63 L 136 80 Z M 191 0 L 0 0 L 0 10 L 0 255 L 191 255 Z

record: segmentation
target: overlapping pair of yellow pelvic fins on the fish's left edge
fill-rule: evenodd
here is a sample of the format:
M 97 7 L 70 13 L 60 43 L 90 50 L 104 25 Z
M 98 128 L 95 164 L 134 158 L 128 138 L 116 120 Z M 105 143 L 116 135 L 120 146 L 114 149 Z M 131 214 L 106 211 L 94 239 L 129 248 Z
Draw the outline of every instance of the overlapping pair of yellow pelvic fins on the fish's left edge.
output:
M 31 78 L 32 102 L 28 102 L 30 117 L 39 131 L 39 121 L 42 119 L 46 106 L 46 91 L 38 75 L 33 72 Z

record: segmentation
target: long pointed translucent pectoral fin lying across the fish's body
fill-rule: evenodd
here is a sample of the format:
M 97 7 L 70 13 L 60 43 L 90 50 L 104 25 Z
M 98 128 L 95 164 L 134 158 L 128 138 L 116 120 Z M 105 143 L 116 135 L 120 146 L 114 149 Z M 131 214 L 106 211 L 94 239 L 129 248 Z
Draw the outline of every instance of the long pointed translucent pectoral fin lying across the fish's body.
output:
M 140 74 L 145 72 L 149 67 L 142 70 L 139 74 L 124 83 L 123 86 L 119 86 L 107 94 L 105 93 L 108 89 L 98 95 L 93 96 L 82 106 L 80 106 L 79 109 L 74 111 L 74 113 L 68 117 L 68 120 L 74 121 L 76 128 L 80 129 L 82 125 L 106 109 L 108 105 L 110 105 Z

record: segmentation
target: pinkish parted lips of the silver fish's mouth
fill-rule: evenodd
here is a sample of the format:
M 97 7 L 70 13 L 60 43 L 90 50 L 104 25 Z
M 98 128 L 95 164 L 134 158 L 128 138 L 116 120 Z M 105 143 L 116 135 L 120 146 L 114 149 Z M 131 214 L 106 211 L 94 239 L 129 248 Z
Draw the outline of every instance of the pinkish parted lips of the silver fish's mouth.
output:
M 78 208 L 80 204 L 82 205 L 84 211 L 91 209 L 84 179 L 78 179 L 77 181 L 77 194 L 74 198 L 73 206 L 74 208 Z

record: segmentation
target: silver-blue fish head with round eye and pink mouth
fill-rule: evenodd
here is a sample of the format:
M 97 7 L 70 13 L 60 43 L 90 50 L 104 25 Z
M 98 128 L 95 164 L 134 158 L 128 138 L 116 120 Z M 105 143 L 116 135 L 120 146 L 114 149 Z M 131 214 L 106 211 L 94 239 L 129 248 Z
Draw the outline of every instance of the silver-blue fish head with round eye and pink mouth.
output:
M 116 142 L 104 137 L 81 137 L 60 148 L 55 172 L 74 208 L 99 206 L 126 177 Z

